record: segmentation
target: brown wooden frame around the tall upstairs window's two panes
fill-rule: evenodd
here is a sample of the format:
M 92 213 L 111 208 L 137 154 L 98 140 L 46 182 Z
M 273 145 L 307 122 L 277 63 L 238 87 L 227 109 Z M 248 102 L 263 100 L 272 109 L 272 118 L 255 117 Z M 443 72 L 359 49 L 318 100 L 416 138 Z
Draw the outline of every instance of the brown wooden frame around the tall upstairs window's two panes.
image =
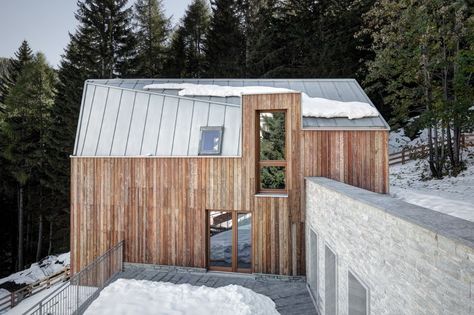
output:
M 285 114 L 285 160 L 260 160 L 260 114 L 262 113 L 284 113 Z M 288 111 L 286 109 L 262 109 L 255 114 L 255 192 L 257 194 L 287 194 L 288 193 Z M 268 189 L 262 188 L 260 172 L 263 167 L 284 167 L 285 188 Z

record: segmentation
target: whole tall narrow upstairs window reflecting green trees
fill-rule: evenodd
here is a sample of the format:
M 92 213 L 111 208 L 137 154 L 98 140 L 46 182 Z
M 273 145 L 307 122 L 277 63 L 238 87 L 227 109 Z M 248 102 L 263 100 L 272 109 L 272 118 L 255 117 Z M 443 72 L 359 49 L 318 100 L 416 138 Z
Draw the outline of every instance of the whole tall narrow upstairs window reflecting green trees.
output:
M 286 192 L 286 111 L 257 112 L 257 192 Z

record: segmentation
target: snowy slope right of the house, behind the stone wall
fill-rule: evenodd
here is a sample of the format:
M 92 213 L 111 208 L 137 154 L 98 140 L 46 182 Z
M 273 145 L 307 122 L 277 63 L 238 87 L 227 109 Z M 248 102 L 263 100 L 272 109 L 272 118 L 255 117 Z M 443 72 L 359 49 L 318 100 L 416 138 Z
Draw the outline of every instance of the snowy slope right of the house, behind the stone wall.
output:
M 467 169 L 457 177 L 423 180 L 426 160 L 390 167 L 390 194 L 418 206 L 474 222 L 474 148 L 464 152 Z

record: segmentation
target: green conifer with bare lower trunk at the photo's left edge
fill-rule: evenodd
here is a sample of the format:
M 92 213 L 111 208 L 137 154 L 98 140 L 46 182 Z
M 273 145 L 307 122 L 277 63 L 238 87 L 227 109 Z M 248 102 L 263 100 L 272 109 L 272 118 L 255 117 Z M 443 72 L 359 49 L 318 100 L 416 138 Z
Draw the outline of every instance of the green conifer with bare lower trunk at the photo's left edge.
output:
M 23 219 L 26 211 L 36 209 L 41 216 L 44 167 L 48 164 L 47 132 L 54 104 L 55 74 L 42 54 L 23 65 L 9 92 L 3 116 L 3 158 L 15 179 L 18 193 L 18 269 L 24 265 Z M 25 193 L 27 192 L 27 193 Z M 28 205 L 28 207 L 25 207 Z M 34 205 L 34 206 L 33 206 Z

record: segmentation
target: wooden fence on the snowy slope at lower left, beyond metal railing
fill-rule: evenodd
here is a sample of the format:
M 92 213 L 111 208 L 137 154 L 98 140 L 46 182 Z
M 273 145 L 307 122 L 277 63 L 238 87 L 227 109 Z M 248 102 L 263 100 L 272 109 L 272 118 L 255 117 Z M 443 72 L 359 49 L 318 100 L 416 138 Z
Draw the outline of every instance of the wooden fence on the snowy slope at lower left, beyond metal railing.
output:
M 11 292 L 0 298 L 0 314 L 18 305 L 23 299 L 35 295 L 45 289 L 50 288 L 52 285 L 64 282 L 70 277 L 69 267 L 49 276 L 44 279 L 38 280 L 34 283 L 28 284 L 21 289 Z

